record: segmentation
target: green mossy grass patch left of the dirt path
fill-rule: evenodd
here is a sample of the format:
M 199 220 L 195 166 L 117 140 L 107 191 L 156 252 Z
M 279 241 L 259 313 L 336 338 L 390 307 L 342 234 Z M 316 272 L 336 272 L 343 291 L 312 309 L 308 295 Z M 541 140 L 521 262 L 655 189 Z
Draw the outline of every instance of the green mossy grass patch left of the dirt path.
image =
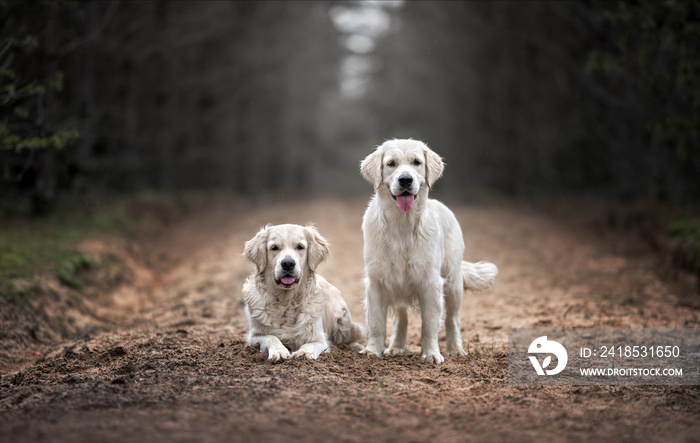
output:
M 106 233 L 143 235 L 167 224 L 183 208 L 174 196 L 122 196 L 90 207 L 64 206 L 46 218 L 0 215 L 0 296 L 25 296 L 27 291 L 13 289 L 13 280 L 39 276 L 53 276 L 80 290 L 85 273 L 117 261 L 105 255 L 98 264 L 78 250 L 81 242 Z

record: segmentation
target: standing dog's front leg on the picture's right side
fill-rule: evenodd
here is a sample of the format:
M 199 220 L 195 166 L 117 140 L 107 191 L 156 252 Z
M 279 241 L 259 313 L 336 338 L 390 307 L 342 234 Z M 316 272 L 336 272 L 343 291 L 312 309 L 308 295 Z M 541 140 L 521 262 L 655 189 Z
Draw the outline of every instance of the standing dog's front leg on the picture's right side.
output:
M 438 364 L 445 361 L 438 345 L 443 298 L 442 279 L 438 273 L 432 284 L 420 295 L 421 360 L 426 363 Z

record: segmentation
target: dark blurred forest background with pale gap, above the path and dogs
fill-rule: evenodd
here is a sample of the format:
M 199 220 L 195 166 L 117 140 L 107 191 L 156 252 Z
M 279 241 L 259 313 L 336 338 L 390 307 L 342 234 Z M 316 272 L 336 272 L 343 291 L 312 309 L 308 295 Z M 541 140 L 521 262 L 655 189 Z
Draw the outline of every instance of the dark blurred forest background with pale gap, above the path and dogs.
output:
M 440 196 L 697 202 L 700 2 L 0 2 L 0 209 L 371 192 L 388 138 Z

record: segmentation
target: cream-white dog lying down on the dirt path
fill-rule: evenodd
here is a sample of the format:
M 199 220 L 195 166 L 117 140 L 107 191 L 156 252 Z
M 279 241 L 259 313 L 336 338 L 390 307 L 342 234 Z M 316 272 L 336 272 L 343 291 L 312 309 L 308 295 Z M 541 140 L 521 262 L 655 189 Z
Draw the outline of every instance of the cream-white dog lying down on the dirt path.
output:
M 315 272 L 328 242 L 313 226 L 268 225 L 246 242 L 244 255 L 257 268 L 243 284 L 248 345 L 260 345 L 277 361 L 318 358 L 330 350 L 328 339 L 362 339 L 340 291 Z

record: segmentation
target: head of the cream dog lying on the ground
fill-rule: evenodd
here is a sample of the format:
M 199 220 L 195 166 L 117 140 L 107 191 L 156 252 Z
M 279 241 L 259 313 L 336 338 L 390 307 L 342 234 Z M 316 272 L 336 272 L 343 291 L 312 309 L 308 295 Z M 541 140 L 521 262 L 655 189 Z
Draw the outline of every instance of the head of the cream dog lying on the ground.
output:
M 246 242 L 243 255 L 264 278 L 287 290 L 298 286 L 304 273 L 316 271 L 328 255 L 328 241 L 311 225 L 267 225 Z

